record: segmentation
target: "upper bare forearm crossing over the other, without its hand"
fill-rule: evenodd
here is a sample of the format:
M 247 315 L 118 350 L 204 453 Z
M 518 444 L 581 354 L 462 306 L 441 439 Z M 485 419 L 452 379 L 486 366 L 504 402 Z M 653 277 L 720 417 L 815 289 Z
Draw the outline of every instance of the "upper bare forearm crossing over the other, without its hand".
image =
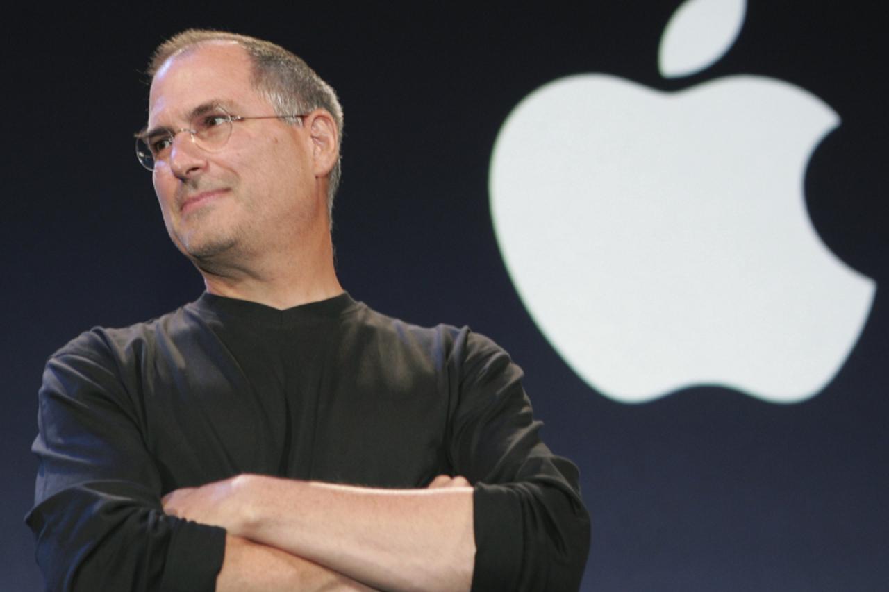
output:
M 239 477 L 236 533 L 392 590 L 468 590 L 471 487 L 382 490 Z M 231 531 L 230 527 L 229 530 Z

